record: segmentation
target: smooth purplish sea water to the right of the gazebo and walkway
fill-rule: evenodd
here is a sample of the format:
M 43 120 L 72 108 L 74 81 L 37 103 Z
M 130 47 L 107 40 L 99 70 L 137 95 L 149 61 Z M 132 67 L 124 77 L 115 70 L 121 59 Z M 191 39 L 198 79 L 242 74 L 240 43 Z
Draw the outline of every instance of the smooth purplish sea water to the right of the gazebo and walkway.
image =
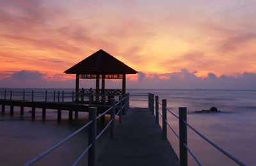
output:
M 255 90 L 136 90 L 130 94 L 154 93 L 167 100 L 168 109 L 179 115 L 187 107 L 188 123 L 229 153 L 248 165 L 256 165 L 256 91 Z M 131 97 L 132 98 L 132 97 Z M 134 96 L 147 100 L 147 96 Z M 131 101 L 134 107 L 147 102 Z M 196 110 L 217 107 L 221 113 L 195 114 Z M 161 107 L 159 106 L 159 109 Z M 161 123 L 161 122 L 160 122 Z M 179 133 L 179 121 L 168 114 L 168 123 Z M 168 140 L 179 154 L 179 140 L 168 130 Z M 188 146 L 204 165 L 237 165 L 188 128 Z M 189 156 L 189 165 L 196 165 Z

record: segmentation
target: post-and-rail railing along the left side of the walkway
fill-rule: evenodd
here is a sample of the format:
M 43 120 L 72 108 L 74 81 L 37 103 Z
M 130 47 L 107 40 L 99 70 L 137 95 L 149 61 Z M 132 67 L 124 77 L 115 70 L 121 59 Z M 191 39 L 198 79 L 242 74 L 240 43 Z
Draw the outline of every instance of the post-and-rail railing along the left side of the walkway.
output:
M 119 107 L 118 111 L 116 112 L 116 106 Z M 106 129 L 110 126 L 110 137 L 111 139 L 115 138 L 115 116 L 119 116 L 119 123 L 122 123 L 122 115 L 127 111 L 129 108 L 129 94 L 126 94 L 125 97 L 119 96 L 119 102 L 115 102 L 115 99 L 111 99 L 111 107 L 104 111 L 102 114 L 97 116 L 97 107 L 89 107 L 89 121 L 88 123 L 84 124 L 81 128 L 76 130 L 76 132 L 68 135 L 65 139 L 61 140 L 54 146 L 50 147 L 49 149 L 42 152 L 40 155 L 35 156 L 35 158 L 29 160 L 28 162 L 24 163 L 24 166 L 33 165 L 38 160 L 44 158 L 44 156 L 48 155 L 54 149 L 60 147 L 62 144 L 70 140 L 72 137 L 77 135 L 77 133 L 81 132 L 85 128 L 89 127 L 88 132 L 88 147 L 83 151 L 83 153 L 76 159 L 76 161 L 72 165 L 77 165 L 81 161 L 81 159 L 88 154 L 88 165 L 95 166 L 96 165 L 96 144 L 97 140 L 102 136 L 102 134 L 106 131 Z M 116 113 L 115 113 L 116 112 Z M 106 114 L 110 114 L 111 118 L 108 124 L 100 131 L 97 135 L 97 119 Z

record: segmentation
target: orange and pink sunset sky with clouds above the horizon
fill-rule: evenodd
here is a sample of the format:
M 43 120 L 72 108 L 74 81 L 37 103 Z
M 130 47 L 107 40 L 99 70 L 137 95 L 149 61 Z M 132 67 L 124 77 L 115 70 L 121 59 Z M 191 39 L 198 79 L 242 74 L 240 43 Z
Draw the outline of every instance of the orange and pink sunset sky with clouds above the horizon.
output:
M 255 16 L 254 0 L 0 0 L 0 87 L 74 87 L 63 72 L 103 49 L 139 72 L 128 88 L 256 89 Z

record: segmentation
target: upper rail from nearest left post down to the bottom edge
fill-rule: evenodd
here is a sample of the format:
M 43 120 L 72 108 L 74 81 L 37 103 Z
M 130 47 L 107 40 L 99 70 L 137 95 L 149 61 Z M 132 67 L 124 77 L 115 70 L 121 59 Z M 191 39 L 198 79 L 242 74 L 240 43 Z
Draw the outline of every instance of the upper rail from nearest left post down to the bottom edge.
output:
M 88 123 L 84 124 L 84 126 L 82 126 L 81 128 L 79 128 L 78 130 L 76 130 L 76 132 L 68 135 L 68 137 L 66 137 L 65 139 L 61 140 L 60 142 L 58 142 L 57 144 L 55 144 L 54 146 L 50 147 L 49 149 L 47 149 L 46 151 L 44 151 L 43 153 L 41 153 L 40 155 L 35 156 L 35 158 L 31 159 L 29 162 L 25 163 L 24 166 L 28 166 L 28 165 L 32 165 L 33 163 L 37 162 L 38 160 L 40 160 L 41 158 L 43 158 L 44 156 L 48 155 L 49 153 L 51 153 L 54 149 L 56 149 L 57 147 L 61 146 L 61 144 L 67 142 L 67 140 L 71 139 L 72 137 L 74 137 L 74 135 L 76 135 L 77 133 L 81 132 L 84 128 L 86 128 L 87 126 L 89 126 L 90 124 L 92 124 L 92 121 L 89 121 Z

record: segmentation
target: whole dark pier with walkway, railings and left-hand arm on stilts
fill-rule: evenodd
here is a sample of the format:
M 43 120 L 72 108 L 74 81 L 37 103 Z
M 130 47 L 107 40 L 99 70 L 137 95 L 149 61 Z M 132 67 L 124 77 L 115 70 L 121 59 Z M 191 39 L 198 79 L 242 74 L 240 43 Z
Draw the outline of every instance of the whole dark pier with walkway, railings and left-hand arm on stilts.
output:
M 6 92 L 6 91 L 4 91 Z M 0 95 L 1 96 L 1 95 Z M 7 95 L 6 95 L 7 96 Z M 22 95 L 21 95 L 22 96 Z M 9 96 L 10 97 L 10 96 Z M 90 96 L 89 96 L 90 97 Z M 88 158 L 88 165 L 188 165 L 188 155 L 191 155 L 198 165 L 203 165 L 198 156 L 193 153 L 193 149 L 188 145 L 188 132 L 190 129 L 195 132 L 199 137 L 211 144 L 212 147 L 218 149 L 223 155 L 233 160 L 238 165 L 246 165 L 241 160 L 228 153 L 225 149 L 221 148 L 210 139 L 205 137 L 202 133 L 196 130 L 186 119 L 186 107 L 179 108 L 179 115 L 173 114 L 172 110 L 168 109 L 167 101 L 162 99 L 159 101 L 159 96 L 148 93 L 148 108 L 130 108 L 129 100 L 132 96 L 125 94 L 125 96 L 118 96 L 118 100 L 112 98 L 108 103 L 95 104 L 92 100 L 91 105 L 85 103 L 75 102 L 36 102 L 36 101 L 23 101 L 23 100 L 7 100 L 1 98 L 0 104 L 2 105 L 2 114 L 5 105 L 10 105 L 11 116 L 13 114 L 13 107 L 31 107 L 41 109 L 57 109 L 58 122 L 61 119 L 62 110 L 72 110 L 88 112 L 89 121 L 84 124 L 79 130 L 69 135 L 67 138 L 56 143 L 49 149 L 35 156 L 24 165 L 33 165 L 46 155 L 51 155 L 54 149 L 60 147 L 63 143 L 72 139 L 74 135 L 83 132 L 85 128 L 89 128 L 88 133 L 88 147 L 84 149 L 81 156 L 77 157 L 73 165 L 79 164 L 81 159 L 85 156 Z M 88 96 L 87 96 L 88 98 Z M 107 102 L 107 101 L 106 101 Z M 33 109 L 34 108 L 34 109 Z M 43 111 L 44 112 L 44 111 Z M 44 113 L 43 113 L 44 114 Z M 101 130 L 97 130 L 97 121 L 104 119 L 106 115 L 110 116 L 110 120 Z M 168 123 L 167 114 L 177 118 L 179 123 L 179 131 L 173 130 L 172 126 Z M 20 114 L 22 116 L 22 114 Z M 35 112 L 32 112 L 32 118 L 35 117 Z M 115 119 L 118 117 L 118 125 Z M 69 117 L 70 118 L 70 117 Z M 159 124 L 161 119 L 161 125 Z M 97 155 L 97 140 L 106 133 L 109 129 L 109 141 L 104 147 L 103 151 Z M 172 145 L 168 142 L 167 130 L 172 131 L 177 139 L 179 139 L 179 156 L 173 151 Z M 97 158 L 97 156 L 99 156 Z

